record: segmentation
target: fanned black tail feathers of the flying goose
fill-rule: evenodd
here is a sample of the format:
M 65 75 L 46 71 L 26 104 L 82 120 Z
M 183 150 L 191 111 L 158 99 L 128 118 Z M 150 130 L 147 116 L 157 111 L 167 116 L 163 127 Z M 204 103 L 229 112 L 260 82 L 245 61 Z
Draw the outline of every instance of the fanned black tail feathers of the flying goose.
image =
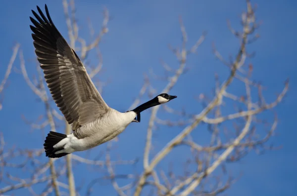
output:
M 54 145 L 56 145 L 59 141 L 61 141 L 62 139 L 66 138 L 66 137 L 67 137 L 67 135 L 65 135 L 65 134 L 49 131 L 49 134 L 46 137 L 46 140 L 44 143 L 44 148 L 46 150 L 46 156 L 50 157 L 50 158 L 59 158 L 59 157 L 68 155 L 68 153 L 54 154 L 57 151 L 63 150 L 63 148 L 59 148 L 59 149 L 53 148 Z

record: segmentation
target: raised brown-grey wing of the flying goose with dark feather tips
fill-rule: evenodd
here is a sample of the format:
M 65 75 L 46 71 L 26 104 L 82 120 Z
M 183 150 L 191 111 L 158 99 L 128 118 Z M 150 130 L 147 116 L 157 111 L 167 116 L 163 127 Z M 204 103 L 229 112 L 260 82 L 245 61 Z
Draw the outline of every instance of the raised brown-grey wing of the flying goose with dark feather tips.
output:
M 75 51 L 54 26 L 47 5 L 45 7 L 48 19 L 38 6 L 41 17 L 32 10 L 38 22 L 30 17 L 35 25 L 30 25 L 35 53 L 54 102 L 68 123 L 77 128 L 104 114 L 108 106 Z

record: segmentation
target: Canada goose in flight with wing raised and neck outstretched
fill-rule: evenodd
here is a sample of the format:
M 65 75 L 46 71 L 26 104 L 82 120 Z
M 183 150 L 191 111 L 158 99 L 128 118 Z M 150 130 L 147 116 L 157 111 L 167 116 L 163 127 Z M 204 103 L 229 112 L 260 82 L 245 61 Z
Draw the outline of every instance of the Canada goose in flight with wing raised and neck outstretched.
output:
M 63 157 L 105 143 L 120 134 L 131 122 L 140 122 L 140 113 L 164 104 L 177 96 L 162 93 L 125 113 L 118 112 L 102 99 L 83 63 L 53 24 L 47 5 L 47 17 L 37 6 L 38 22 L 30 17 L 35 53 L 51 96 L 73 132 L 69 135 L 50 131 L 44 148 L 46 156 Z

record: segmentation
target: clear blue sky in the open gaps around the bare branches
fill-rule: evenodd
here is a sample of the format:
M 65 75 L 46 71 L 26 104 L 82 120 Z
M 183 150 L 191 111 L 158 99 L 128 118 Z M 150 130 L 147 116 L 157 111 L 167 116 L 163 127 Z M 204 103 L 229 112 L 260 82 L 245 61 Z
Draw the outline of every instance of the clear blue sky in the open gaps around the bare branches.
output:
M 1 3 L 0 80 L 15 42 L 21 44 L 29 75 L 35 73 L 29 16 L 32 16 L 31 9 L 36 10 L 36 5 L 44 9 L 44 3 L 48 4 L 56 27 L 67 37 L 61 1 L 11 0 Z M 240 162 L 232 164 L 235 173 L 243 172 L 244 176 L 226 193 L 230 196 L 293 196 L 297 192 L 297 133 L 294 123 L 297 109 L 297 1 L 270 0 L 268 3 L 265 0 L 253 0 L 252 3 L 258 4 L 256 17 L 263 21 L 258 30 L 260 39 L 249 47 L 250 50 L 256 51 L 255 58 L 250 60 L 254 65 L 253 78 L 261 80 L 268 87 L 265 91 L 267 100 L 273 100 L 275 94 L 281 91 L 283 81 L 290 78 L 290 91 L 284 102 L 275 110 L 279 118 L 277 134 L 270 140 L 283 148 L 266 152 L 262 156 L 251 153 Z M 118 110 L 127 110 L 142 86 L 143 74 L 148 73 L 150 68 L 157 74 L 163 73 L 159 64 L 160 58 L 177 67 L 175 57 L 167 49 L 167 44 L 180 44 L 178 16 L 182 15 L 189 46 L 199 38 L 202 31 L 206 30 L 208 35 L 198 48 L 198 55 L 189 59 L 190 72 L 182 76 L 171 91 L 171 94 L 178 95 L 179 101 L 172 101 L 169 105 L 173 108 L 185 107 L 190 112 L 198 113 L 201 108 L 194 96 L 211 91 L 214 72 L 219 73 L 221 78 L 227 73 L 225 67 L 215 60 L 211 44 L 214 42 L 225 57 L 237 52 L 238 40 L 229 32 L 226 20 L 230 19 L 233 27 L 240 29 L 238 16 L 245 10 L 245 0 L 77 0 L 76 16 L 81 29 L 87 28 L 86 21 L 90 18 L 95 31 L 99 31 L 103 6 L 109 9 L 113 18 L 108 24 L 109 32 L 100 45 L 104 72 L 99 74 L 99 78 L 102 81 L 110 81 L 102 93 L 107 104 Z M 87 37 L 88 31 L 81 31 L 80 34 Z M 96 63 L 96 59 L 91 60 Z M 19 69 L 18 60 L 14 68 Z M 156 81 L 153 84 L 159 91 L 165 85 Z M 12 73 L 3 98 L 0 131 L 3 132 L 7 147 L 17 145 L 20 148 L 40 148 L 43 137 L 36 130 L 29 133 L 30 128 L 21 119 L 21 115 L 35 120 L 44 113 L 43 105 L 37 102 L 36 96 L 31 93 L 20 74 Z M 148 117 L 149 113 L 144 113 L 143 123 L 130 125 L 120 135 L 117 154 L 121 154 L 123 159 L 133 158 L 143 152 Z M 179 128 L 167 128 L 156 133 L 157 148 L 161 148 L 166 139 L 173 138 L 179 131 Z M 136 146 L 139 148 L 135 148 Z M 131 152 L 129 149 L 134 150 Z M 103 147 L 97 147 L 94 151 L 100 150 L 104 150 Z M 178 162 L 180 157 L 175 155 L 176 157 L 170 158 Z M 141 164 L 138 169 L 141 169 Z M 75 176 L 84 174 L 78 172 Z M 109 188 L 103 187 L 102 191 Z

